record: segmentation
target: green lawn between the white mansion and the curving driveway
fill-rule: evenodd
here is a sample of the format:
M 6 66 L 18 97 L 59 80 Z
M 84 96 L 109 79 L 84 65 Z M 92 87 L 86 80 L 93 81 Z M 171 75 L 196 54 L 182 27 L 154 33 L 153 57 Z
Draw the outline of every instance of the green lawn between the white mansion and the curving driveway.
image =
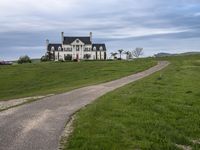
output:
M 0 66 L 0 100 L 61 93 L 145 70 L 156 62 L 88 61 Z

